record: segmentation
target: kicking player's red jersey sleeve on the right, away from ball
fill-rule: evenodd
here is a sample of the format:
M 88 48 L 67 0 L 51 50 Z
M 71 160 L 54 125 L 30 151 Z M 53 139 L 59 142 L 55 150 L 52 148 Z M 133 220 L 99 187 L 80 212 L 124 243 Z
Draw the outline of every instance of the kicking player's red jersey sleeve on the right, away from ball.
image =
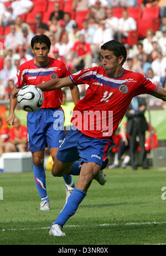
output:
M 154 85 L 154 83 L 152 83 L 148 78 L 143 75 L 140 76 L 140 85 L 141 86 L 139 86 L 138 88 L 139 94 L 156 92 L 158 89 L 157 85 Z

